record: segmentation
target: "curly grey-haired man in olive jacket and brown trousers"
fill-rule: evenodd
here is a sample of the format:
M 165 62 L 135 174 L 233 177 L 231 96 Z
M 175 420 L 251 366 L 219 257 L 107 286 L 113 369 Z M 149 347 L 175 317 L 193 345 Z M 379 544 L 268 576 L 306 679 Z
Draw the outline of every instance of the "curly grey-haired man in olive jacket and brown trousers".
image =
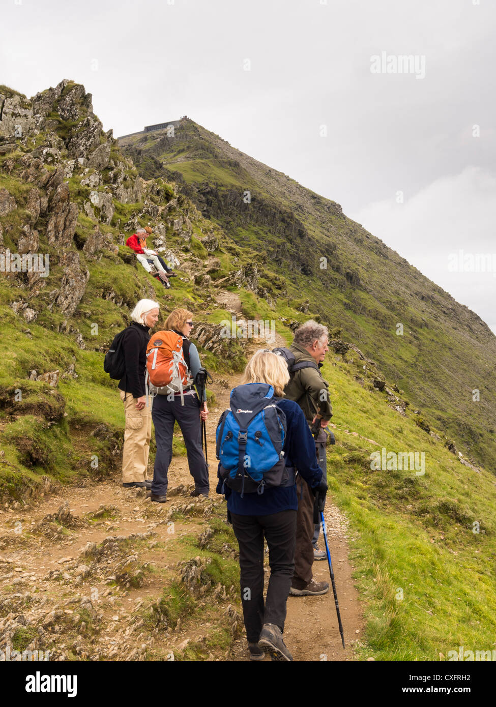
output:
M 325 444 L 327 436 L 324 428 L 333 415 L 330 404 L 328 382 L 320 372 L 325 353 L 328 351 L 328 330 L 323 325 L 309 320 L 294 332 L 294 340 L 289 351 L 294 354 L 296 369 L 291 376 L 284 394 L 289 400 L 299 404 L 309 426 L 320 419 L 320 430 L 315 439 L 318 464 L 327 478 L 327 457 Z M 308 365 L 305 365 L 308 364 Z M 297 480 L 298 523 L 296 530 L 296 551 L 294 554 L 294 577 L 292 596 L 321 595 L 328 592 L 327 582 L 313 580 L 313 560 L 325 560 L 325 550 L 319 550 L 317 541 L 320 525 L 313 522 L 313 495 L 304 479 Z

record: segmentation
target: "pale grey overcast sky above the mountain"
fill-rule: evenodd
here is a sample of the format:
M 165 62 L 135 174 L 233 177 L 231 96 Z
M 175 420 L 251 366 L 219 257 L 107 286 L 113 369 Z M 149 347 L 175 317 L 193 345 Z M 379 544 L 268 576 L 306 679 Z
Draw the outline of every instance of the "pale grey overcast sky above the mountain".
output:
M 83 83 L 116 137 L 188 115 L 338 201 L 496 332 L 492 0 L 0 0 L 0 16 L 0 83 Z

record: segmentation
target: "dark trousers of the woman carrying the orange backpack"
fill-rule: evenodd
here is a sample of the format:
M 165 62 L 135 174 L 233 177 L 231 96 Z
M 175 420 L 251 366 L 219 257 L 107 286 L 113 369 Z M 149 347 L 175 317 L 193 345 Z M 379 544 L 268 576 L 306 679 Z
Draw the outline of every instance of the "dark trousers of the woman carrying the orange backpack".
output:
M 172 459 L 172 440 L 176 420 L 183 433 L 190 474 L 195 480 L 195 491 L 208 493 L 209 473 L 202 450 L 200 401 L 196 393 L 195 395 L 185 395 L 184 405 L 181 405 L 179 395 L 176 395 L 173 400 L 168 400 L 167 395 L 157 395 L 151 408 L 151 419 L 154 421 L 156 441 L 154 480 L 151 482 L 151 493 L 156 496 L 166 496 L 167 494 L 167 472 Z

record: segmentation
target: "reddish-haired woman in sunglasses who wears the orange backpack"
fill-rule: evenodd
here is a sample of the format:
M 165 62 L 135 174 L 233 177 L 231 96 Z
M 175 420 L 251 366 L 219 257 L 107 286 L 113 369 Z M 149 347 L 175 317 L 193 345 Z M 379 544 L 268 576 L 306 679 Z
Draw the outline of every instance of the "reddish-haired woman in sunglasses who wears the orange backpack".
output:
M 193 328 L 192 313 L 185 309 L 176 309 L 168 315 L 163 329 L 178 334 L 182 339 L 183 357 L 187 370 L 187 385 L 182 392 L 172 393 L 167 387 L 150 387 L 154 398 L 152 418 L 155 427 L 156 457 L 154 480 L 151 484 L 151 501 L 165 503 L 167 498 L 167 472 L 172 459 L 172 440 L 174 423 L 177 420 L 188 453 L 190 474 L 195 480 L 195 490 L 190 496 L 209 495 L 209 474 L 207 462 L 202 450 L 201 421 L 207 420 L 208 408 L 204 402 L 200 409 L 200 399 L 205 400 L 204 387 L 195 390 L 194 381 L 202 364 L 195 344 L 189 337 Z

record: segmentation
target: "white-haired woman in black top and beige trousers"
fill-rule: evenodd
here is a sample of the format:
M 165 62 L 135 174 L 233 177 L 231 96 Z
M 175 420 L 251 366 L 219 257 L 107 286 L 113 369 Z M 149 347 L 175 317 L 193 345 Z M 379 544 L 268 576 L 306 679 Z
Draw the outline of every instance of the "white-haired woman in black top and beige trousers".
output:
M 122 486 L 151 488 L 146 479 L 151 438 L 151 399 L 146 400 L 146 345 L 149 329 L 158 322 L 160 305 L 154 300 L 139 300 L 131 312 L 131 325 L 122 332 L 125 373 L 119 381 L 124 402 L 125 432 L 122 448 Z

